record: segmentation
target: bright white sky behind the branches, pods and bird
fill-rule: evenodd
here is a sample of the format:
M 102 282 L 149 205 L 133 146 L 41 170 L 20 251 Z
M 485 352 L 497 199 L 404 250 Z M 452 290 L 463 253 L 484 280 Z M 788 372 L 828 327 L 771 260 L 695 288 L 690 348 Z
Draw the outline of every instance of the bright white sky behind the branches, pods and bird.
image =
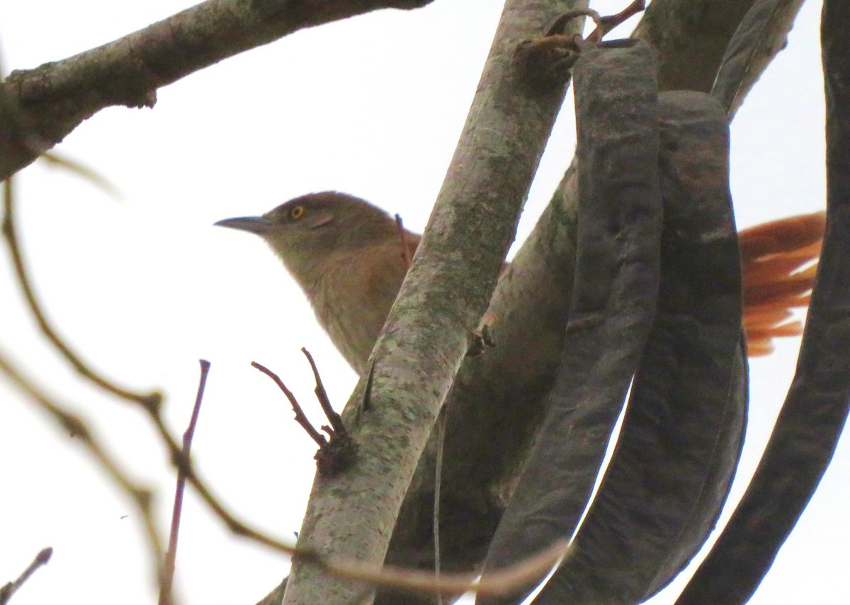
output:
M 93 365 L 167 393 L 182 432 L 197 359 L 212 361 L 193 454 L 241 515 L 283 537 L 298 529 L 314 445 L 276 387 L 280 372 L 314 418 L 314 354 L 332 401 L 355 376 L 294 282 L 257 238 L 214 229 L 309 191 L 361 195 L 422 229 L 490 46 L 501 3 L 437 0 L 301 31 L 162 89 L 154 110 L 100 112 L 56 149 L 121 189 L 36 164 L 17 180 L 20 225 L 37 291 L 59 330 Z M 190 2 L 4 3 L 6 69 L 62 59 L 160 20 Z M 623 2 L 594 4 L 603 13 Z M 733 127 L 733 193 L 742 226 L 824 205 L 819 3 Z M 524 239 L 570 161 L 571 101 L 532 188 Z M 5 249 L 0 252 L 7 262 Z M 7 265 L 8 266 L 8 265 Z M 160 490 L 163 534 L 173 473 L 142 415 L 77 380 L 42 341 L 10 272 L 0 277 L 0 346 L 93 422 L 137 477 Z M 791 381 L 798 342 L 751 363 L 751 421 L 739 479 L 749 478 Z M 54 558 L 14 597 L 42 602 L 155 602 L 133 507 L 88 455 L 0 383 L 0 583 L 44 546 Z M 842 441 L 796 531 L 752 603 L 847 602 L 850 444 Z M 741 494 L 736 483 L 733 499 Z M 128 518 L 122 516 L 128 515 Z M 724 517 L 725 519 L 725 517 Z M 184 602 L 252 603 L 286 573 L 282 557 L 229 536 L 188 492 L 178 552 Z M 682 583 L 654 603 L 675 600 Z

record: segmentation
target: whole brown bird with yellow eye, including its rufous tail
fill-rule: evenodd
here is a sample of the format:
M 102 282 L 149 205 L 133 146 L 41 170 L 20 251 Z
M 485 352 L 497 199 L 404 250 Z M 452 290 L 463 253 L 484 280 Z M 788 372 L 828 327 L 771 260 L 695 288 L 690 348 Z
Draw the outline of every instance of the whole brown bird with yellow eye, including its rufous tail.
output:
M 271 246 L 333 344 L 362 374 L 421 236 L 367 201 L 334 191 L 216 224 L 259 235 Z M 802 332 L 791 309 L 808 305 L 824 229 L 824 213 L 817 212 L 740 232 L 751 356 L 773 351 L 774 337 Z

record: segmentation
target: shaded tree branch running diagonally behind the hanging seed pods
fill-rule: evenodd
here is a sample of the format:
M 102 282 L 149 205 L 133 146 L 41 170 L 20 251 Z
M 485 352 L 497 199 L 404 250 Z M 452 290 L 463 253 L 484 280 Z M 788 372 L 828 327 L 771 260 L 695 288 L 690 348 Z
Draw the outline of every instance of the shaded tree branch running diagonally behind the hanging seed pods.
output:
M 635 37 L 652 42 L 659 53 L 660 88 L 710 91 L 728 42 L 752 3 L 650 3 Z M 768 35 L 784 38 L 792 17 L 775 21 Z M 752 82 L 767 66 L 753 65 Z M 498 347 L 464 362 L 447 401 L 440 505 L 445 570 L 479 567 L 542 420 L 573 285 L 576 202 L 571 167 L 496 286 L 487 314 L 498 318 L 492 327 Z M 387 563 L 433 567 L 433 451 L 432 442 L 405 497 Z M 377 602 L 414 601 L 382 594 Z

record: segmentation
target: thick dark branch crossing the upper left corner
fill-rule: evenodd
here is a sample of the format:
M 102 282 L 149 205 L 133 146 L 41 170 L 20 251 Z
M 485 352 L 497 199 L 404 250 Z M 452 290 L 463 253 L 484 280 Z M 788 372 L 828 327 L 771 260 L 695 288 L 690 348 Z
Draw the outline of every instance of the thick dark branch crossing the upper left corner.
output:
M 68 59 L 13 71 L 0 94 L 0 180 L 105 107 L 152 107 L 157 88 L 305 27 L 431 2 L 207 0 Z

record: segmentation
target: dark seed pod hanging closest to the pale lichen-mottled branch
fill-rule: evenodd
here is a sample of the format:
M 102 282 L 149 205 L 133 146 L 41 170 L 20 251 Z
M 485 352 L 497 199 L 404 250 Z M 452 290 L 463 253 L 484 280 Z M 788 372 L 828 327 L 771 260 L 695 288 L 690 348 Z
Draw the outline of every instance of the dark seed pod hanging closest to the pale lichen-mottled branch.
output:
M 580 202 L 566 341 L 541 435 L 484 574 L 575 530 L 655 315 L 661 201 L 654 53 L 645 42 L 589 48 L 573 77 Z M 531 587 L 478 602 L 519 602 Z

